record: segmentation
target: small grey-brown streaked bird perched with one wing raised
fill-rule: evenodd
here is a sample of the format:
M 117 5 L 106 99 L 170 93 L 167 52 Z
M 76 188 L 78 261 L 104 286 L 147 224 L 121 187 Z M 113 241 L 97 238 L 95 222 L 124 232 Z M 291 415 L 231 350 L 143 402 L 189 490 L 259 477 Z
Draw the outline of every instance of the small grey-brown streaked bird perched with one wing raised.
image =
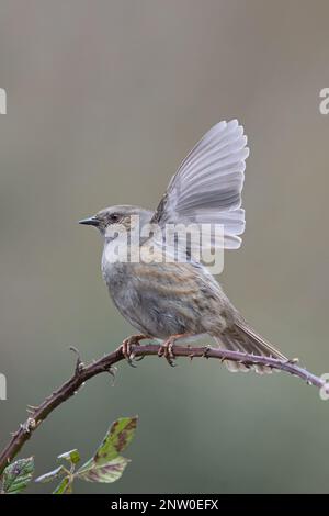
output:
M 223 238 L 212 240 L 212 246 L 238 249 L 246 226 L 241 192 L 248 156 L 243 126 L 237 120 L 222 121 L 182 161 L 155 211 L 114 205 L 79 221 L 95 226 L 102 235 L 103 279 L 118 312 L 139 332 L 124 340 L 128 360 L 131 347 L 150 338 L 160 343 L 159 356 L 174 364 L 174 345 L 204 335 L 220 349 L 288 360 L 252 329 L 207 266 L 191 257 L 191 248 L 186 246 L 173 257 L 157 232 L 146 236 L 140 232 L 147 225 L 162 232 L 170 224 L 218 224 Z M 136 231 L 138 237 L 133 238 Z M 138 259 L 117 259 L 120 248 Z M 148 259 L 140 259 L 150 249 Z M 260 363 L 250 367 L 226 360 L 225 364 L 232 372 L 272 371 Z

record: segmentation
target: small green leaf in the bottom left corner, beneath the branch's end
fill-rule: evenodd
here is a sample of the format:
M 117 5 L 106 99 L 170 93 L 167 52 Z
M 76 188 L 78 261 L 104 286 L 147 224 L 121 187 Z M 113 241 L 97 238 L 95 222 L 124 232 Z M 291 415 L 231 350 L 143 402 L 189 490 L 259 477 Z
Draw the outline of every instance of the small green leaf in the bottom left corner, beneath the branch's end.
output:
M 4 494 L 18 494 L 31 482 L 34 471 L 34 459 L 20 459 L 9 464 L 3 471 L 2 491 Z

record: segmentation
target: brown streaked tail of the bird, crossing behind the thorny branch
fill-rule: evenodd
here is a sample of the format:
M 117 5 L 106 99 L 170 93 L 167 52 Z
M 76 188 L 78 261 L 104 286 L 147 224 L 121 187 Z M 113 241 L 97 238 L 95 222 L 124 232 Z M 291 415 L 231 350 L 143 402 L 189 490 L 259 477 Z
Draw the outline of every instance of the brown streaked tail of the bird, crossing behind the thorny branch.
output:
M 215 339 L 222 349 L 287 360 L 284 355 L 253 332 L 246 323 L 236 323 L 234 327 L 226 329 L 220 336 L 215 336 Z M 250 367 L 232 360 L 226 360 L 225 364 L 232 372 L 250 370 Z M 259 374 L 272 372 L 270 367 L 262 364 L 254 364 L 252 369 Z

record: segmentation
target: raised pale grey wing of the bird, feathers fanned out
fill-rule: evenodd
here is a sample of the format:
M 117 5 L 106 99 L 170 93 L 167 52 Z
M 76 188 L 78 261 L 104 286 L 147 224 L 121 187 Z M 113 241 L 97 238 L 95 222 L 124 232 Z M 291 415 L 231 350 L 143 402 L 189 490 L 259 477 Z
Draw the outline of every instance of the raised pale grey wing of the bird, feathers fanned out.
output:
M 245 231 L 241 191 L 249 149 L 237 120 L 214 125 L 171 179 L 152 223 L 222 224 L 224 247 L 236 249 Z M 222 240 L 223 242 L 223 240 Z

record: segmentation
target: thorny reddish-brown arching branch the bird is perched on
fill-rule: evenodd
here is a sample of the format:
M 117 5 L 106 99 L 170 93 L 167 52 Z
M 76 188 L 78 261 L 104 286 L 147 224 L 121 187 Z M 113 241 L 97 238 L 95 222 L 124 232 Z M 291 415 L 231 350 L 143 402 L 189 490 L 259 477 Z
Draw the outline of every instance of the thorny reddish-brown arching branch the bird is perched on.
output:
M 9 464 L 13 458 L 19 453 L 23 445 L 30 439 L 32 434 L 42 424 L 42 422 L 61 403 L 66 402 L 70 396 L 77 393 L 80 386 L 90 378 L 95 377 L 102 372 L 110 372 L 113 374 L 113 366 L 124 360 L 122 347 L 118 347 L 110 355 L 83 366 L 77 349 L 71 348 L 78 355 L 76 370 L 72 377 L 65 382 L 57 391 L 54 391 L 48 397 L 45 399 L 37 407 L 27 407 L 30 417 L 25 423 L 20 425 L 20 428 L 12 435 L 10 442 L 5 446 L 0 455 L 0 475 L 3 469 Z M 135 357 L 157 356 L 159 350 L 158 345 L 149 344 L 146 346 L 132 346 L 132 352 Z M 282 361 L 274 358 L 258 357 L 256 355 L 247 355 L 238 351 L 227 351 L 218 348 L 209 347 L 192 347 L 192 346 L 174 346 L 173 352 L 175 357 L 188 358 L 216 358 L 222 362 L 225 360 L 234 360 L 242 362 L 243 364 L 263 364 L 272 369 L 288 372 L 295 377 L 299 377 L 310 385 L 316 385 L 318 389 L 326 389 L 329 393 L 329 384 L 319 377 L 311 374 L 306 369 L 297 366 L 296 361 Z

